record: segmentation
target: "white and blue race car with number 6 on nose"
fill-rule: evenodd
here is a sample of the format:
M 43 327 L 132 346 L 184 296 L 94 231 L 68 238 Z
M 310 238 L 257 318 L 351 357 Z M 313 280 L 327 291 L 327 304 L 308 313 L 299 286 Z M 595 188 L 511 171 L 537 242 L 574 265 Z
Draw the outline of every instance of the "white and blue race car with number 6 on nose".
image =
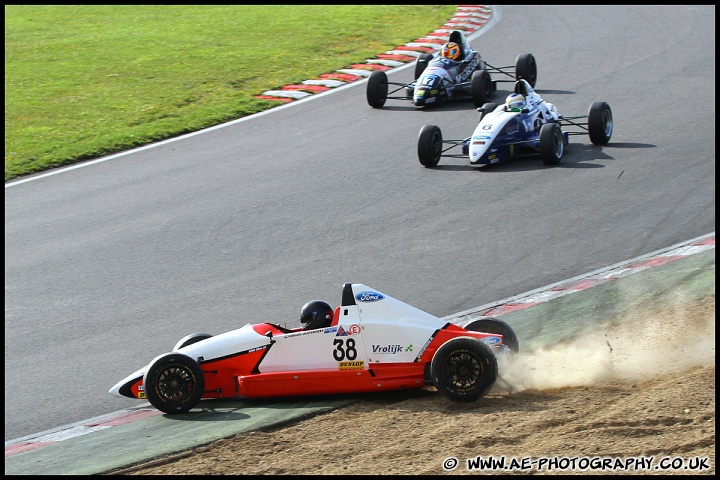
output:
M 486 103 L 478 111 L 480 123 L 465 139 L 444 140 L 440 127 L 424 125 L 418 135 L 420 163 L 433 168 L 440 158 L 450 157 L 466 158 L 470 165 L 480 166 L 539 155 L 545 165 L 557 165 L 570 135 L 587 133 L 594 145 L 605 145 L 613 131 L 612 110 L 606 102 L 594 102 L 587 115 L 561 115 L 523 79 L 515 82 L 505 103 Z M 563 131 L 573 127 L 577 129 Z

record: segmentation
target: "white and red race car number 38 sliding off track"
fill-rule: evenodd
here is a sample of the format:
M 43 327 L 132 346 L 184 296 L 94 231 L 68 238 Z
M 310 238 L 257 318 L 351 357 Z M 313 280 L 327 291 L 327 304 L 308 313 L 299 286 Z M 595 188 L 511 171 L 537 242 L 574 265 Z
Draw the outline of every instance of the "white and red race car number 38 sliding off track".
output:
M 310 325 L 313 327 L 314 325 Z M 363 284 L 345 283 L 320 328 L 247 324 L 191 334 L 109 393 L 148 400 L 168 414 L 205 398 L 347 394 L 434 385 L 472 402 L 498 378 L 498 359 L 518 351 L 504 321 L 449 323 Z M 501 361 L 502 363 L 502 361 Z

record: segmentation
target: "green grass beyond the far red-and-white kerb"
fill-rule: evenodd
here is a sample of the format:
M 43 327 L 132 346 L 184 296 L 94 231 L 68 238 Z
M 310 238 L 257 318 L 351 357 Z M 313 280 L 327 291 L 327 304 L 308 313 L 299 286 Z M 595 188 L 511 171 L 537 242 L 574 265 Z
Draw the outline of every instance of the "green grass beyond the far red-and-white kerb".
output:
M 5 181 L 282 103 L 455 5 L 6 5 Z

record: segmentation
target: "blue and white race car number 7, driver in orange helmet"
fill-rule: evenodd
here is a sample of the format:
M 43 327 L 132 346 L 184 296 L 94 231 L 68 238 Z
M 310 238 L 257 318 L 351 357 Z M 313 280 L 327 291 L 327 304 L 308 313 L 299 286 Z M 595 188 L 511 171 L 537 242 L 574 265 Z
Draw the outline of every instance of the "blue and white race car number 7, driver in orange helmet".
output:
M 502 75 L 502 79 L 493 80 L 491 72 Z M 518 78 L 535 85 L 537 62 L 531 53 L 518 55 L 514 70 L 495 67 L 470 47 L 461 30 L 453 30 L 439 52 L 418 57 L 414 82 L 391 82 L 384 71 L 377 70 L 368 77 L 366 97 L 373 108 L 382 108 L 388 99 L 412 100 L 416 107 L 425 108 L 468 98 L 480 107 L 497 91 L 497 82 Z

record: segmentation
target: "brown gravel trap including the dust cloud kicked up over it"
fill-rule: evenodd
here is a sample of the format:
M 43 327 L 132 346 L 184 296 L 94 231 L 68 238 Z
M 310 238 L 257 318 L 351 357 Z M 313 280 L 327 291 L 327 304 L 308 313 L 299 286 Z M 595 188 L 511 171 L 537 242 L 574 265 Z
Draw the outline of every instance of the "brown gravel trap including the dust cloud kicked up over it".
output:
M 107 474 L 714 475 L 715 297 L 678 300 L 686 303 L 646 308 L 636 307 L 636 296 L 633 308 L 622 309 L 633 318 L 608 318 L 594 332 L 543 350 L 523 353 L 520 339 L 521 353 L 501 372 L 524 391 L 499 391 L 467 404 L 434 387 L 410 395 L 386 392 L 392 395 Z M 442 462 L 449 455 L 676 457 L 707 459 L 709 468 L 448 472 Z

